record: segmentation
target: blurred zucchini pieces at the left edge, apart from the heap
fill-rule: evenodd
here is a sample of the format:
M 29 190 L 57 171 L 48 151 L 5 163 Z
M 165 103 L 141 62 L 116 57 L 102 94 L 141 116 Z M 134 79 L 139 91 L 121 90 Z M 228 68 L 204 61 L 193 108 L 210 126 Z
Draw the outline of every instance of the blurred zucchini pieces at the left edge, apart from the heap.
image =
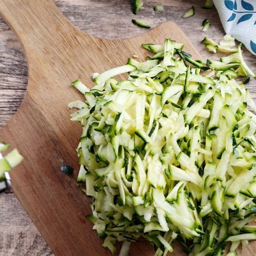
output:
M 4 142 L 0 142 L 0 152 L 6 151 L 10 147 L 9 144 L 5 144 Z M 0 182 L 5 180 L 5 172 L 9 172 L 17 166 L 23 157 L 19 154 L 17 149 L 13 149 L 6 156 L 2 157 L 0 153 Z

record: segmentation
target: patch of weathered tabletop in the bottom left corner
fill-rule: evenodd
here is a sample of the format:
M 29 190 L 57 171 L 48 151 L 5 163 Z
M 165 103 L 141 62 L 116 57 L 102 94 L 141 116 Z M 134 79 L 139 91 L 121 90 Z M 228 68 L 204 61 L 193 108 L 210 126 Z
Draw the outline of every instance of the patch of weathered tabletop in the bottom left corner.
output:
M 0 256 L 54 256 L 13 194 L 0 206 Z

